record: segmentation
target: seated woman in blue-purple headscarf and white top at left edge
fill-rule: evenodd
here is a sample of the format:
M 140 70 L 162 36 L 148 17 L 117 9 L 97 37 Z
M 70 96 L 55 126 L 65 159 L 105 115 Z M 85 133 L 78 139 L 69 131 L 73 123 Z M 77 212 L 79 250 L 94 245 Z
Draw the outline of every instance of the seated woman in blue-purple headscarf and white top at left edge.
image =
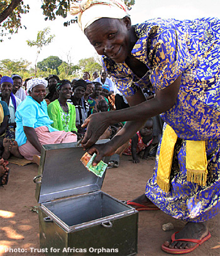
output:
M 6 135 L 5 138 L 9 138 L 10 140 L 14 140 L 15 138 L 15 127 L 16 123 L 15 113 L 18 105 L 21 103 L 21 99 L 14 96 L 13 92 L 13 79 L 8 76 L 3 76 L 1 78 L 1 96 L 0 100 L 5 101 L 8 104 L 10 116 L 8 120 L 8 127 L 6 128 Z

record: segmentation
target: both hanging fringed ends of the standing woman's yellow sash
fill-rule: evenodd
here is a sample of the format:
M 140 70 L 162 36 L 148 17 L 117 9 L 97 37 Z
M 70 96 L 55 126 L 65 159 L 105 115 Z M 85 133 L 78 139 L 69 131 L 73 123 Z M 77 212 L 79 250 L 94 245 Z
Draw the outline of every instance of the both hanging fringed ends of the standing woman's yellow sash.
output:
M 168 192 L 170 190 L 170 172 L 176 142 L 177 135 L 175 134 L 175 131 L 167 125 L 163 132 L 157 169 L 157 184 L 164 192 Z M 206 142 L 187 140 L 185 162 L 187 169 L 187 181 L 197 183 L 200 186 L 206 186 Z

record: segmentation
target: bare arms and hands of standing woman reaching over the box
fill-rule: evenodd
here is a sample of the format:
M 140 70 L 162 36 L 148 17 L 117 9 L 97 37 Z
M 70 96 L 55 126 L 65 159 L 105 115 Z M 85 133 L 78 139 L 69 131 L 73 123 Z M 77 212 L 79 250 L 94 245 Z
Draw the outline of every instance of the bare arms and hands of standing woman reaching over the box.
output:
M 180 81 L 181 75 L 175 80 L 175 82 L 170 84 L 170 86 L 166 87 L 163 90 L 156 91 L 155 97 L 153 99 L 150 99 L 149 101 L 143 102 L 144 96 L 142 91 L 139 90 L 134 96 L 128 97 L 128 103 L 130 106 L 132 106 L 131 108 L 107 112 L 105 113 L 105 118 L 103 118 L 103 116 L 99 118 L 97 114 L 95 123 L 93 122 L 93 120 L 91 120 L 91 123 L 87 122 L 87 137 L 84 138 L 84 143 L 82 144 L 84 148 L 89 148 L 96 142 L 96 136 L 99 127 L 104 127 L 104 124 L 106 123 L 127 121 L 123 128 L 118 133 L 116 133 L 116 135 L 109 142 L 101 145 L 94 145 L 93 147 L 89 148 L 88 153 L 97 153 L 93 165 L 99 163 L 104 156 L 112 155 L 119 147 L 121 147 L 121 145 L 128 142 L 129 138 L 135 135 L 136 131 L 140 130 L 140 128 L 145 124 L 145 121 L 148 118 L 151 118 L 157 114 L 161 114 L 172 108 L 173 104 L 175 104 L 175 101 L 177 99 Z M 141 99 L 142 103 L 140 103 Z M 134 106 L 134 104 L 136 103 L 140 104 Z M 89 127 L 89 125 L 91 124 L 95 127 Z

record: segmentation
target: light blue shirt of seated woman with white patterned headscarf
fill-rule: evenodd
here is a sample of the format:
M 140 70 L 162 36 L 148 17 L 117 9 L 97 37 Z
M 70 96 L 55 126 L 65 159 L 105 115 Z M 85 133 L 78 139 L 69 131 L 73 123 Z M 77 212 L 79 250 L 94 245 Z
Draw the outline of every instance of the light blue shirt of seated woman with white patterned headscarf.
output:
M 25 144 L 27 140 L 23 126 L 31 128 L 47 126 L 50 132 L 58 131 L 51 126 L 53 121 L 50 120 L 48 116 L 47 103 L 45 100 L 38 103 L 33 97 L 27 96 L 26 99 L 19 104 L 15 116 L 15 140 L 18 142 L 18 147 Z

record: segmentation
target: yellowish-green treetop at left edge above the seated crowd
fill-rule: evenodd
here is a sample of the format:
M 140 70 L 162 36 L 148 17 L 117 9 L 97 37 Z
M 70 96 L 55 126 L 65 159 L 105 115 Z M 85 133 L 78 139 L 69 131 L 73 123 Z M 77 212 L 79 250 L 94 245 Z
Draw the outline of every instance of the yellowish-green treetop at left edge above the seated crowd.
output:
M 20 60 L 9 60 L 4 59 L 0 60 L 0 69 L 4 74 L 7 74 L 11 76 L 13 73 L 19 73 L 24 72 L 28 70 L 28 67 L 31 65 L 31 62 L 28 62 L 27 60 L 23 60 L 21 58 Z

